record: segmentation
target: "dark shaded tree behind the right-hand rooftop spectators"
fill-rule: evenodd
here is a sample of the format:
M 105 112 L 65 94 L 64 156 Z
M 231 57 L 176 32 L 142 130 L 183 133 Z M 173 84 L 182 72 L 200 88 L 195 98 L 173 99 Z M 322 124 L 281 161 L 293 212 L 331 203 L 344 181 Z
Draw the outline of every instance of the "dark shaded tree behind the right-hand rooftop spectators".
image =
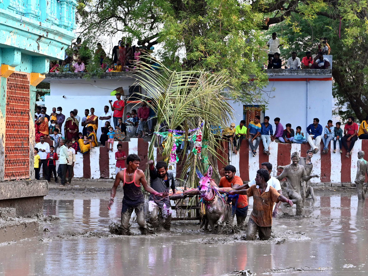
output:
M 339 20 L 323 15 L 304 19 L 300 14 L 291 13 L 288 20 L 272 26 L 269 32 L 277 32 L 287 41 L 287 48 L 281 49 L 284 59 L 293 51 L 300 59 L 306 51 L 318 52 L 319 38 L 327 37 L 333 54 L 333 96 L 337 99 L 338 113 L 344 119 L 355 113 L 360 121 L 365 120 L 368 114 L 368 34 L 363 21 L 342 21 L 340 25 Z M 347 111 L 344 111 L 346 106 Z

